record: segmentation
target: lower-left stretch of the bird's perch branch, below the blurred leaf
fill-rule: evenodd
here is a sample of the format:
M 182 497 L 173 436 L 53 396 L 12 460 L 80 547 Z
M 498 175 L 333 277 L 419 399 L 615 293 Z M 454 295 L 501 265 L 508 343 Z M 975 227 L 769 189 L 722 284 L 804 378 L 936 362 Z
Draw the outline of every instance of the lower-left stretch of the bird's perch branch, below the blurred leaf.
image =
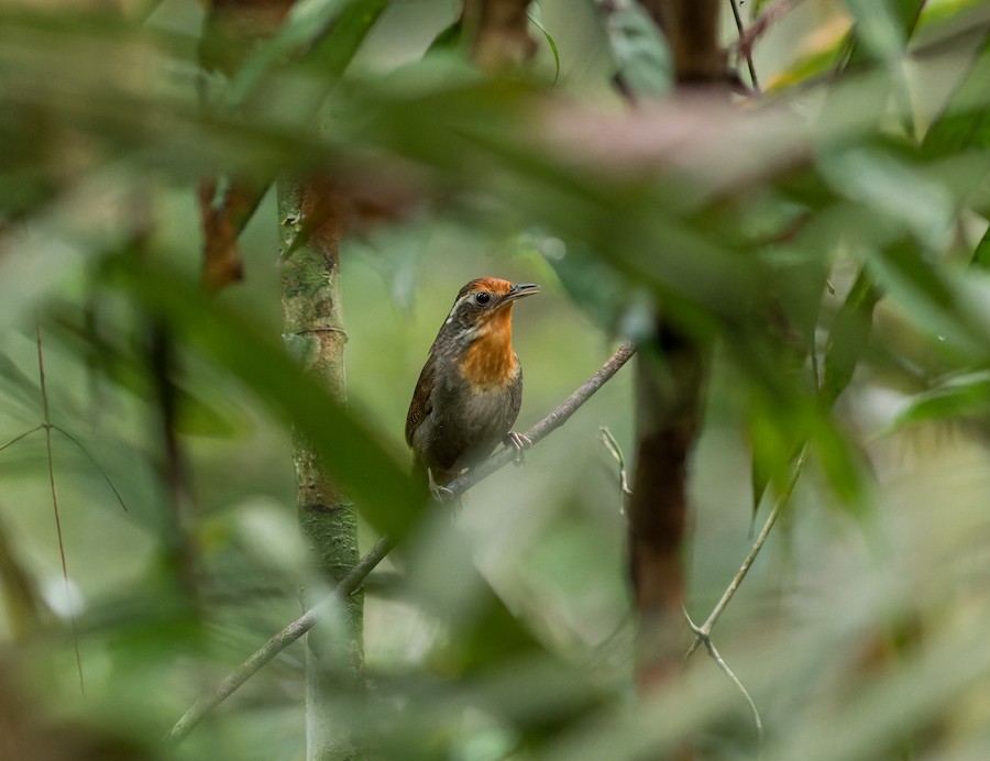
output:
M 358 564 L 351 569 L 350 573 L 340 581 L 333 592 L 252 653 L 248 660 L 234 669 L 227 679 L 219 684 L 211 695 L 207 695 L 194 703 L 168 731 L 166 739 L 178 742 L 185 738 L 207 714 L 230 697 L 238 687 L 261 671 L 268 661 L 312 629 L 312 627 L 327 615 L 333 604 L 344 599 L 361 586 L 361 582 L 364 581 L 364 577 L 372 572 L 372 569 L 374 569 L 386 554 L 388 554 L 389 550 L 392 550 L 392 541 L 388 537 L 382 537 L 375 545 L 358 561 Z

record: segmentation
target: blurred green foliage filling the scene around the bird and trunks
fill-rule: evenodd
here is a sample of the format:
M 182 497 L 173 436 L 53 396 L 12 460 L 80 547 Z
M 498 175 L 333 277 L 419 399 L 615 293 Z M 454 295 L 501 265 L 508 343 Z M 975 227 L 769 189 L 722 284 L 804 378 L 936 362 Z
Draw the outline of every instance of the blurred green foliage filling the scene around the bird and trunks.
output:
M 632 451 L 628 372 L 455 521 L 418 504 L 409 395 L 458 288 L 492 274 L 543 285 L 516 310 L 520 428 L 658 305 L 711 344 L 695 619 L 750 545 L 754 494 L 769 485 L 759 522 L 810 442 L 715 632 L 761 710 L 762 758 L 986 756 L 988 3 L 930 1 L 915 24 L 919 2 L 805 0 L 757 42 L 754 121 L 684 107 L 675 161 L 641 164 L 622 159 L 631 132 L 588 131 L 585 155 L 539 110 L 618 119 L 616 70 L 669 90 L 663 48 L 628 9 L 606 23 L 592 3 L 539 3 L 559 76 L 542 44 L 531 71 L 494 80 L 457 49 L 422 57 L 448 2 L 304 5 L 232 82 L 209 82 L 215 119 L 197 99 L 197 3 L 0 11 L 0 443 L 43 421 L 36 323 L 67 569 L 37 430 L 0 450 L 15 724 L 76 748 L 69 726 L 109 732 L 155 758 L 302 757 L 295 648 L 183 743 L 161 740 L 298 615 L 296 424 L 338 463 L 365 545 L 406 534 L 370 580 L 371 687 L 341 681 L 341 718 L 374 758 L 618 759 L 684 737 L 704 758 L 754 756 L 745 702 L 701 653 L 683 682 L 634 699 L 622 496 L 598 441 L 607 426 Z M 671 113 L 644 122 L 661 146 Z M 274 201 L 242 236 L 245 283 L 209 296 L 194 186 L 395 158 L 444 202 L 344 244 L 344 409 L 282 348 Z M 182 521 L 162 477 L 156 326 L 179 351 Z

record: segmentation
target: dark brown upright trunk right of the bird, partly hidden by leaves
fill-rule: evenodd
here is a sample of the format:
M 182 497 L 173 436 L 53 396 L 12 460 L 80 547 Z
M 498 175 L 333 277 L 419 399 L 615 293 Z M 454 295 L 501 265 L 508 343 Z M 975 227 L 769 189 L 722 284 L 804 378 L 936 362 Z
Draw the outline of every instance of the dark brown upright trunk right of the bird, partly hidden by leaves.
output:
M 711 90 L 727 80 L 716 0 L 642 4 L 668 40 L 680 91 L 697 86 Z M 680 672 L 686 647 L 688 460 L 701 426 L 705 351 L 661 313 L 652 338 L 640 346 L 636 370 L 629 571 L 639 614 L 636 674 L 640 688 L 648 690 Z

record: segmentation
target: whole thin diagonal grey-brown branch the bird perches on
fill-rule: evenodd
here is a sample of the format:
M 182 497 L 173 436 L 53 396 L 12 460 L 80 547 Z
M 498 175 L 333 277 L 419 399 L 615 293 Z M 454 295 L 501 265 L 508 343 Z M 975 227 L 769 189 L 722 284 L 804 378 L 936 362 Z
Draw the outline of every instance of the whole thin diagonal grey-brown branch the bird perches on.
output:
M 624 343 L 619 346 L 618 351 L 612 355 L 608 362 L 602 365 L 597 373 L 585 380 L 580 388 L 564 399 L 557 409 L 550 412 L 550 415 L 530 428 L 526 432 L 527 438 L 536 444 L 541 439 L 547 438 L 552 431 L 560 428 L 568 418 L 578 411 L 578 408 L 581 407 L 581 405 L 587 401 L 606 380 L 615 375 L 619 368 L 629 361 L 629 357 L 631 357 L 635 352 L 636 350 L 630 343 Z M 505 448 L 497 451 L 466 475 L 451 482 L 450 489 L 454 494 L 463 494 L 474 486 L 474 484 L 488 477 L 497 470 L 505 467 L 513 461 L 514 455 L 515 450 L 513 448 Z M 360 561 L 358 561 L 358 564 L 346 576 L 344 576 L 333 592 L 265 642 L 264 646 L 232 671 L 212 694 L 202 697 L 193 704 L 169 730 L 167 739 L 178 742 L 193 731 L 207 714 L 230 697 L 235 690 L 261 671 L 261 669 L 278 653 L 309 631 L 319 621 L 320 617 L 331 604 L 354 592 L 367 574 L 370 574 L 382 559 L 388 554 L 392 547 L 392 541 L 387 537 L 380 539 L 377 543 Z

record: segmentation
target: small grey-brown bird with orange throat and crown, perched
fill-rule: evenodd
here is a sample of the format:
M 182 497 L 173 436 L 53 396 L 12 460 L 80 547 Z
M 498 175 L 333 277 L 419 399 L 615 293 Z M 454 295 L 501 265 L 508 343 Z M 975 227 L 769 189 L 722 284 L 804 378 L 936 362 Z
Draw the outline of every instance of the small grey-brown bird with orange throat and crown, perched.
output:
M 520 455 L 530 443 L 510 430 L 522 404 L 513 305 L 539 290 L 495 277 L 471 280 L 440 327 L 406 416 L 406 442 L 438 496 L 499 442 Z

